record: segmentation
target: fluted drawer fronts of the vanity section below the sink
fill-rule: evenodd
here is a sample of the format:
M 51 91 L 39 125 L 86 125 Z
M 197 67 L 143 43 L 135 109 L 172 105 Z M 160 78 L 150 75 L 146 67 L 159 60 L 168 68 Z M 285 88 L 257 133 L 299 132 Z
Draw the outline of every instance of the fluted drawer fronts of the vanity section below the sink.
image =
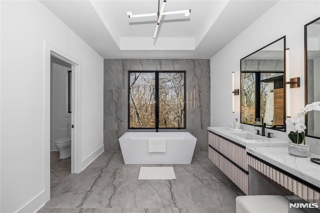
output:
M 208 132 L 209 159 L 245 194 L 248 193 L 248 156 L 245 146 Z

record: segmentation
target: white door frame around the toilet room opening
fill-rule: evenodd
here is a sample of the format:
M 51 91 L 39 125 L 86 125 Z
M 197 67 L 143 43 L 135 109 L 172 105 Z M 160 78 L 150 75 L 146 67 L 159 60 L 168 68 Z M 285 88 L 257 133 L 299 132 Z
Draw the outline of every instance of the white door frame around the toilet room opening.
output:
M 80 97 L 81 97 L 81 62 L 58 49 L 50 43 L 44 41 L 44 74 L 43 74 L 43 105 L 44 105 L 44 134 L 43 134 L 43 171 L 44 171 L 44 190 L 50 197 L 50 57 L 54 56 L 66 63 L 71 64 L 71 173 L 81 171 L 81 143 L 80 143 Z

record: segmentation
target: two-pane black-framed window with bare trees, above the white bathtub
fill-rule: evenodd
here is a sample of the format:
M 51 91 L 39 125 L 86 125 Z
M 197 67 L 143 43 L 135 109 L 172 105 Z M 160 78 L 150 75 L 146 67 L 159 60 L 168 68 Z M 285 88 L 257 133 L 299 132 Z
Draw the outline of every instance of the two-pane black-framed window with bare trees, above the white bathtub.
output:
M 129 71 L 129 128 L 185 128 L 185 71 Z

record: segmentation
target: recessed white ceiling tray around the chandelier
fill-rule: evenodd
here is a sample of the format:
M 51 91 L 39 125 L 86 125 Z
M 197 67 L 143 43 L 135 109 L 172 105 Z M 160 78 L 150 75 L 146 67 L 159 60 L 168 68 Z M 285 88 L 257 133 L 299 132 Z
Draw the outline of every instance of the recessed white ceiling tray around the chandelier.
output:
M 194 50 L 229 1 L 167 0 L 167 3 L 162 2 L 162 4 L 159 4 L 161 3 L 159 0 L 90 2 L 120 50 Z M 187 17 L 179 13 L 162 15 L 159 25 L 157 12 L 153 16 L 132 18 L 134 14 L 150 14 L 152 10 L 159 10 L 159 13 L 161 10 L 180 11 L 182 6 L 191 8 L 192 15 Z M 128 18 L 128 11 L 132 13 L 131 18 Z M 156 39 L 152 39 L 155 24 L 160 33 Z

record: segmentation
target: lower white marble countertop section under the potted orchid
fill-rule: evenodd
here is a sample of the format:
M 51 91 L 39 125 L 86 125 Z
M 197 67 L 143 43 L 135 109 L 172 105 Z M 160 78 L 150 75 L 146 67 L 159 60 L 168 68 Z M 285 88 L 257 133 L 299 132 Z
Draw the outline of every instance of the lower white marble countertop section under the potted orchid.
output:
M 311 157 L 320 158 L 318 154 L 296 157 L 289 154 L 287 147 L 246 147 L 246 151 L 320 187 L 320 165 L 310 161 Z

